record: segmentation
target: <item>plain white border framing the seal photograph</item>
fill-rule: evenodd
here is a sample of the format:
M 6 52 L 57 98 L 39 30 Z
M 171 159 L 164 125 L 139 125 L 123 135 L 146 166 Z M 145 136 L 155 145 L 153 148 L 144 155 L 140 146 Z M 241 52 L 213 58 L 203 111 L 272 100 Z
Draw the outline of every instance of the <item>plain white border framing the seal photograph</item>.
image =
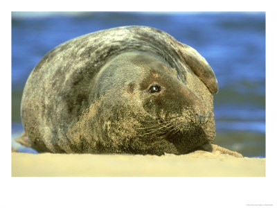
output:
M 0 207 L 247 207 L 274 204 L 276 185 L 276 4 L 274 1 L 11 1 L 1 9 Z M 17 10 L 266 11 L 267 177 L 15 178 L 10 177 L 10 12 Z M 229 206 L 231 205 L 231 206 Z

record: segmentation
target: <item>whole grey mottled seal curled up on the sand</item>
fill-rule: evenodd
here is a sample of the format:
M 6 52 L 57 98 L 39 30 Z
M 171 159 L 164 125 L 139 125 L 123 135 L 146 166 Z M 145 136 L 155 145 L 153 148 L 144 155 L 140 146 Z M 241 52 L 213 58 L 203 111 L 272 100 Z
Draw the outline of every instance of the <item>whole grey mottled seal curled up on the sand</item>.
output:
M 27 80 L 21 119 L 38 152 L 184 154 L 215 138 L 215 92 L 195 49 L 125 26 L 47 53 Z

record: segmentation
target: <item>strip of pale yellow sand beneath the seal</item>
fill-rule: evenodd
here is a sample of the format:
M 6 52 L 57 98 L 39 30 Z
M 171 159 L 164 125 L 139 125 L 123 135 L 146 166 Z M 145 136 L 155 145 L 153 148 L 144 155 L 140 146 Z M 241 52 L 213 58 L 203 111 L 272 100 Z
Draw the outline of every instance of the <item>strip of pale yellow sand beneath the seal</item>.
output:
M 195 151 L 187 155 L 12 153 L 12 176 L 265 177 L 265 158 Z

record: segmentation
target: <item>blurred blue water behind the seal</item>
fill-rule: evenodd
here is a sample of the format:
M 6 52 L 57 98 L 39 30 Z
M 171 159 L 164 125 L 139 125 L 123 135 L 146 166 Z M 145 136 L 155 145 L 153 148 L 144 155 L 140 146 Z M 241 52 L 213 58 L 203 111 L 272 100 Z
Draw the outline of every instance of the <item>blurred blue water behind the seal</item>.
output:
M 215 144 L 265 157 L 265 12 L 12 12 L 12 146 L 20 100 L 35 64 L 73 37 L 113 28 L 159 28 L 193 46 L 215 71 Z

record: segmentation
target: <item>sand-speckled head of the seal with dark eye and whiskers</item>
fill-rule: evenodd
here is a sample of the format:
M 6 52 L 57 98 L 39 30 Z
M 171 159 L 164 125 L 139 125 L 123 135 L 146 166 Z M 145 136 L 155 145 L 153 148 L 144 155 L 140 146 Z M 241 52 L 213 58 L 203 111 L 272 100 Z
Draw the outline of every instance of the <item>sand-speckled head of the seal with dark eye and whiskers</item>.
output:
M 93 104 L 75 132 L 99 153 L 184 154 L 214 136 L 205 132 L 211 109 L 157 55 L 120 54 L 93 83 Z

